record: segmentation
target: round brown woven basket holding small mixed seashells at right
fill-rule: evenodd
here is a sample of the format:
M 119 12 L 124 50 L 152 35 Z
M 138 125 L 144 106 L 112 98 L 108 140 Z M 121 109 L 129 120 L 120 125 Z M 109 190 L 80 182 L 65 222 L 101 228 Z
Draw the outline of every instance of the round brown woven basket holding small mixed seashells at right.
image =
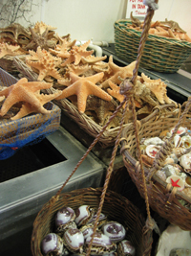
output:
M 188 112 L 181 126 L 191 129 L 190 118 L 191 113 Z M 153 116 L 147 122 L 140 121 L 138 129 L 139 140 L 141 138 L 159 136 L 162 130 L 175 127 L 179 119 L 179 117 L 169 118 L 163 116 L 156 121 L 155 116 Z M 124 128 L 121 137 L 121 154 L 124 165 L 133 182 L 136 184 L 140 196 L 144 198 L 143 182 L 139 162 L 136 158 L 137 143 L 134 126 L 131 125 L 128 128 Z M 150 169 L 144 167 L 145 177 L 147 178 L 149 174 Z M 191 212 L 188 208 L 191 206 L 191 198 L 186 197 L 182 192 L 176 192 L 172 186 L 167 186 L 167 183 L 161 180 L 156 174 L 146 183 L 146 187 L 149 205 L 154 211 L 158 212 L 163 219 L 180 226 L 181 229 L 191 230 Z M 183 206 L 180 200 L 184 201 L 187 207 Z

